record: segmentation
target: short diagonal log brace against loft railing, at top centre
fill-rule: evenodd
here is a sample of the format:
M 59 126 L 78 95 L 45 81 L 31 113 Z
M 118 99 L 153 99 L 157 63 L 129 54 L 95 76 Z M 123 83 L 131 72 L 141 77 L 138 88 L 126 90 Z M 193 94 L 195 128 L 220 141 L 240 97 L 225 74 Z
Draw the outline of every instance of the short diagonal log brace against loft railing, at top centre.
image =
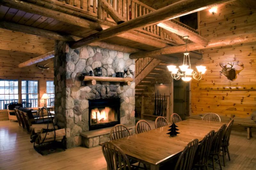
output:
M 106 0 L 101 0 L 101 7 L 108 12 L 116 24 L 121 24 L 124 22 L 124 18 L 110 4 L 108 4 Z

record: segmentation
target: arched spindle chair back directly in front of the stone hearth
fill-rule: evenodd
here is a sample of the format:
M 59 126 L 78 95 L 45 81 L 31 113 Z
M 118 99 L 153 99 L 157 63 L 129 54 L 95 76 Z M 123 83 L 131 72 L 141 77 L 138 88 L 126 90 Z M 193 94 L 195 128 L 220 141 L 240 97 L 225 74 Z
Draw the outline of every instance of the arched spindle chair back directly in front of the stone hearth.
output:
M 127 136 L 131 136 L 131 133 L 129 129 L 122 124 L 117 124 L 110 130 L 110 140 L 116 140 Z

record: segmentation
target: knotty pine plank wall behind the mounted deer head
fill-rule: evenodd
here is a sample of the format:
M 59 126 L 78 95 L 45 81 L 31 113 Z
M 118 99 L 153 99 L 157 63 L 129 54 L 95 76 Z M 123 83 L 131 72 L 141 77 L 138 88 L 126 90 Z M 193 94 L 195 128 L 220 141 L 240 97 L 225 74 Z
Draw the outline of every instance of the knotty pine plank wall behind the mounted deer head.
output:
M 199 12 L 199 29 L 205 38 L 255 32 L 256 13 L 249 8 L 220 5 L 217 14 Z M 215 112 L 220 116 L 254 119 L 256 112 L 256 44 L 240 44 L 225 48 L 202 50 L 203 59 L 197 64 L 207 67 L 201 81 L 191 83 L 191 115 Z M 223 74 L 219 63 L 244 64 L 233 81 Z M 224 88 L 225 89 L 224 89 Z M 231 88 L 232 90 L 230 90 Z M 228 90 L 227 90 L 228 89 Z M 230 90 L 230 91 L 229 91 Z

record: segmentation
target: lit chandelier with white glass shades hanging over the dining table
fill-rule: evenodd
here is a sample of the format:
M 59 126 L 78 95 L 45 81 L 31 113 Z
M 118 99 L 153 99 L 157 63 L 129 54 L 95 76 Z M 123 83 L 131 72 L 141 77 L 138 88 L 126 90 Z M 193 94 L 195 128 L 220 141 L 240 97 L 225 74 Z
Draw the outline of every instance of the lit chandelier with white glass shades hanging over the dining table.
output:
M 183 37 L 183 39 L 188 39 L 188 38 L 189 38 L 188 36 Z M 187 61 L 189 65 L 187 65 Z M 202 75 L 206 71 L 206 67 L 202 65 L 196 66 L 196 69 L 198 72 L 191 69 L 189 53 L 187 51 L 187 43 L 186 43 L 186 52 L 184 53 L 184 58 L 183 58 L 183 65 L 179 66 L 180 71 L 178 71 L 179 69 L 176 68 L 175 65 L 168 65 L 167 68 L 169 71 L 171 71 L 172 78 L 174 78 L 175 80 L 179 80 L 181 78 L 183 81 L 186 81 L 186 82 L 190 81 L 192 78 L 194 78 L 195 80 L 201 80 Z

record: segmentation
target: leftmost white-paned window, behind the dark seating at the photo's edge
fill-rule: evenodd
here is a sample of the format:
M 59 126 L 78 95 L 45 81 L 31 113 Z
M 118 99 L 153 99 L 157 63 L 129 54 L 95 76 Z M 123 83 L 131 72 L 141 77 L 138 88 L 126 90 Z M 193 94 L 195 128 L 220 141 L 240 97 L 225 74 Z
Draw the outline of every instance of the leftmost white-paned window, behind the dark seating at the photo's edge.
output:
M 0 109 L 7 109 L 9 104 L 18 103 L 18 80 L 0 79 Z

